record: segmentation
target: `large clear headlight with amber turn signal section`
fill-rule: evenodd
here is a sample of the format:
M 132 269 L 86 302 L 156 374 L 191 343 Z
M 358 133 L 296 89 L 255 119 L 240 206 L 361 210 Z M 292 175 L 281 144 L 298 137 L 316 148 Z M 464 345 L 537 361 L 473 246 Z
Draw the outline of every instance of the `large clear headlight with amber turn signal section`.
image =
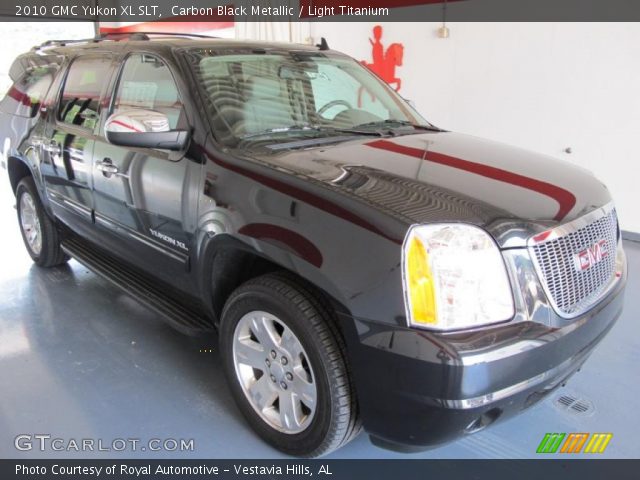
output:
M 513 296 L 498 246 L 484 230 L 457 223 L 416 225 L 403 246 L 411 326 L 473 328 L 513 317 Z

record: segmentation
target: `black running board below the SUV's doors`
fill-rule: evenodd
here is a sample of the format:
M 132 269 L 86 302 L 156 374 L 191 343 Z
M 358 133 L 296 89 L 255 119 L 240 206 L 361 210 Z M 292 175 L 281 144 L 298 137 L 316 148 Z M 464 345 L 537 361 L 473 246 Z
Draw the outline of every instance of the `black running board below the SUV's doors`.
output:
M 202 313 L 169 298 L 151 280 L 112 256 L 78 237 L 66 238 L 64 252 L 135 298 L 145 307 L 162 316 L 169 325 L 186 335 L 214 331 L 213 322 Z

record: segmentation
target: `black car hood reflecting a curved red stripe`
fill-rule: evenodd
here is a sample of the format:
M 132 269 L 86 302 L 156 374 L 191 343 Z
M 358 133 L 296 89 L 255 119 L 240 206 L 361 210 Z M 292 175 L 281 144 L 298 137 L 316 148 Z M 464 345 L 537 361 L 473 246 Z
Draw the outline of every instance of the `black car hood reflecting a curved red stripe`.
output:
M 253 156 L 355 195 L 407 223 L 482 226 L 502 246 L 520 246 L 532 234 L 611 201 L 606 187 L 585 169 L 452 132 L 358 137 Z

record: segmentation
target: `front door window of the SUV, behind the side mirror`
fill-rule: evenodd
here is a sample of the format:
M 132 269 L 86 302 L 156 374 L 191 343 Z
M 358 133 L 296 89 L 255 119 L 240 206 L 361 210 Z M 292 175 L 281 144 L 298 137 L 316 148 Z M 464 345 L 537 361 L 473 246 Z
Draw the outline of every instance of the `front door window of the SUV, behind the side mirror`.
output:
M 135 108 L 162 112 L 169 127 L 177 127 L 182 112 L 178 88 L 169 68 L 153 55 L 131 55 L 122 69 L 114 113 Z

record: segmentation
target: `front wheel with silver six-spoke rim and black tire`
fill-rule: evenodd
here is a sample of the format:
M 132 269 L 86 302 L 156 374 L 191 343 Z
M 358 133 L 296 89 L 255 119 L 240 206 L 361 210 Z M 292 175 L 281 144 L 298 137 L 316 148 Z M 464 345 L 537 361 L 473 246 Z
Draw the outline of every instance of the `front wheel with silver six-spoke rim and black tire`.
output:
M 335 312 L 300 279 L 268 274 L 233 292 L 222 313 L 220 350 L 240 410 L 278 450 L 318 457 L 360 432 Z

